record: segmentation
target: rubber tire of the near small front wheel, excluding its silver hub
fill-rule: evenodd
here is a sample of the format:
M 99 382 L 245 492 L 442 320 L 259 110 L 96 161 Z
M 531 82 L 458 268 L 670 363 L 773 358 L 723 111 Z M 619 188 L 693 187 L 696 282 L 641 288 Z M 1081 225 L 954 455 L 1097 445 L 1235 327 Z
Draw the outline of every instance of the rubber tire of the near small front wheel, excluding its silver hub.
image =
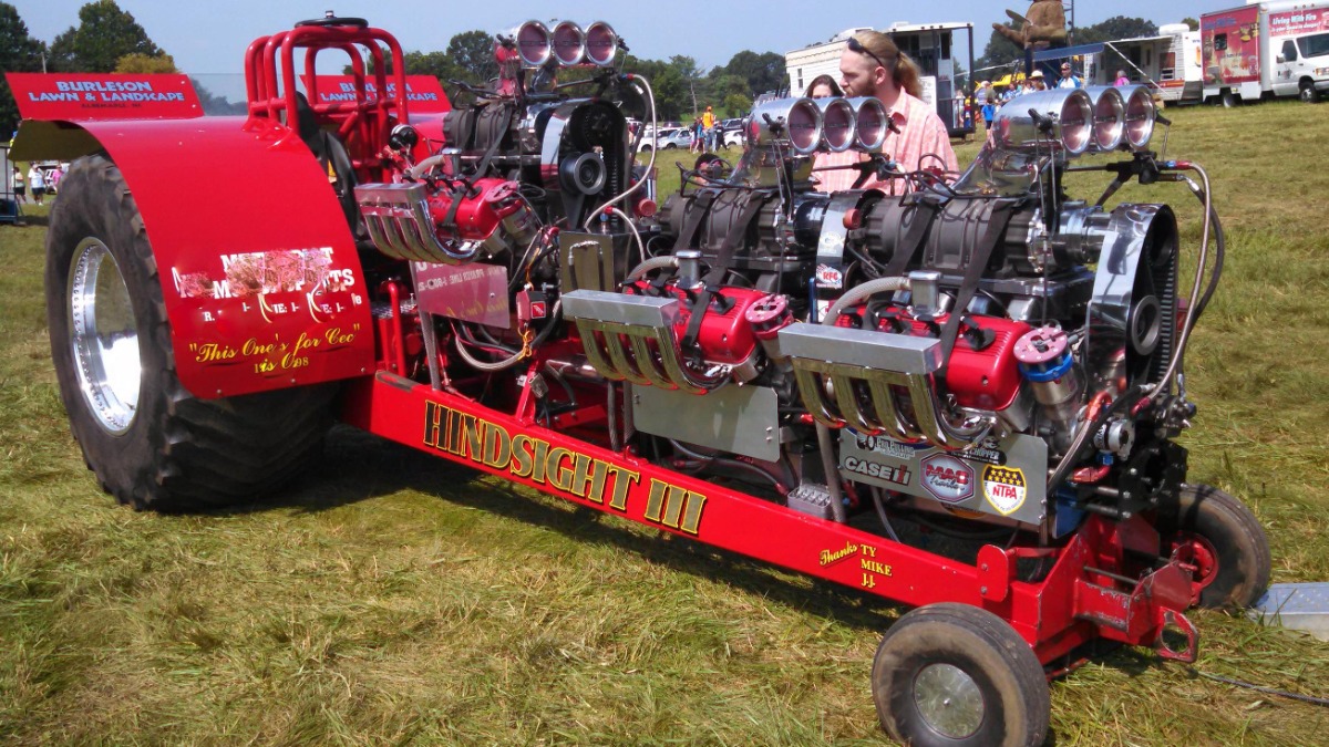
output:
M 916 716 L 914 677 L 932 663 L 958 666 L 983 691 L 985 718 L 969 738 L 937 734 Z M 872 695 L 881 727 L 905 744 L 1033 747 L 1051 719 L 1047 677 L 1029 643 L 993 613 L 961 603 L 918 607 L 890 626 L 873 659 Z

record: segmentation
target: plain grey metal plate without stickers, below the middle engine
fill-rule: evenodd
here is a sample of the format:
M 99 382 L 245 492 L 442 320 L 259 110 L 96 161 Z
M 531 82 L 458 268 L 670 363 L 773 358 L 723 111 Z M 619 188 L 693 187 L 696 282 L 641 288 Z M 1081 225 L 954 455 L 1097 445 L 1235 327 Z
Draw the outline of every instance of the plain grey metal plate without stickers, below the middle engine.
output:
M 777 461 L 780 413 L 775 389 L 720 387 L 690 395 L 659 387 L 631 387 L 633 424 L 643 433 L 711 449 Z

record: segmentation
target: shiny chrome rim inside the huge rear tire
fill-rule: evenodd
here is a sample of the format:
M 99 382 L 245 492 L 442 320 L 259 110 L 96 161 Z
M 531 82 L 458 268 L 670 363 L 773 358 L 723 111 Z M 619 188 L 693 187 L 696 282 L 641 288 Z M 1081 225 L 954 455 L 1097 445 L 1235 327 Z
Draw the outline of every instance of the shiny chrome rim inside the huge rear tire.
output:
M 100 239 L 85 238 L 74 250 L 68 298 L 78 389 L 97 424 L 118 436 L 134 421 L 144 367 L 129 287 Z

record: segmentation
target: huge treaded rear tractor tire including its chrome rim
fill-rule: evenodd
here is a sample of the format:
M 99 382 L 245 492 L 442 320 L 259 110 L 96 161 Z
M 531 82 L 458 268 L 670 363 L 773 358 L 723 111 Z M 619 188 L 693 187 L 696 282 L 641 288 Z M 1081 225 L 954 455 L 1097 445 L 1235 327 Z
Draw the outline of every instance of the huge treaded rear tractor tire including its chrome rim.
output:
M 120 169 L 74 162 L 47 233 L 47 323 L 69 427 L 136 509 L 251 501 L 322 451 L 334 384 L 203 400 L 181 384 L 157 261 Z

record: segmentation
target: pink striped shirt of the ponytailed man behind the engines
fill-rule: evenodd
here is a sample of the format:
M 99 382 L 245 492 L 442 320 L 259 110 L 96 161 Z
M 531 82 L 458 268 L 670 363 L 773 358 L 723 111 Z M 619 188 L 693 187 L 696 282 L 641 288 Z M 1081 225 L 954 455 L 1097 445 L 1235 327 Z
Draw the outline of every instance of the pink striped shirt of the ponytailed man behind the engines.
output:
M 900 128 L 900 134 L 894 132 L 886 134 L 886 142 L 881 150 L 896 160 L 904 171 L 917 171 L 924 167 L 942 167 L 956 173 L 960 165 L 956 161 L 956 152 L 950 148 L 950 133 L 941 122 L 937 112 L 928 106 L 928 102 L 909 96 L 904 90 L 890 109 L 890 118 Z M 844 153 L 817 153 L 813 160 L 815 167 L 821 166 L 848 166 L 863 161 L 863 154 L 845 150 Z M 823 191 L 844 191 L 853 189 L 859 171 L 855 169 L 837 169 L 833 171 L 815 171 L 821 183 Z M 886 194 L 900 194 L 904 191 L 902 179 L 886 179 L 878 182 L 877 178 L 868 177 L 863 189 L 874 187 Z

